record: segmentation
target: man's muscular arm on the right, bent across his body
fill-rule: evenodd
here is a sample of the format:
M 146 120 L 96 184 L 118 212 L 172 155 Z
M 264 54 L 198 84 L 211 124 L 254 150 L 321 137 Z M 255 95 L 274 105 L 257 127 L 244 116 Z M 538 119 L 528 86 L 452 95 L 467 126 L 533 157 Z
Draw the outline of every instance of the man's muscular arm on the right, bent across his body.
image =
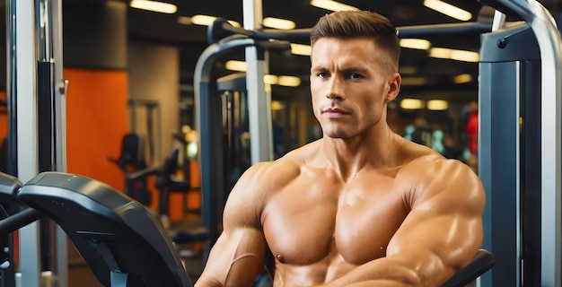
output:
M 459 161 L 414 166 L 426 180 L 412 198 L 411 211 L 382 257 L 322 286 L 440 286 L 467 265 L 482 243 L 485 194 L 479 178 Z

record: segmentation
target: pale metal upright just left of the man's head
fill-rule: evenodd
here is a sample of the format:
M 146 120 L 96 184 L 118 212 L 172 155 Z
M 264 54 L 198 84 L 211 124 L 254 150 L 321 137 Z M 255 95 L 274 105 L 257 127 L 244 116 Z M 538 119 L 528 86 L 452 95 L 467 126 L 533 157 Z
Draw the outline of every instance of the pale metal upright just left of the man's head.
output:
M 259 29 L 262 16 L 261 0 L 243 0 L 244 28 Z M 251 163 L 273 159 L 271 99 L 263 81 L 267 73 L 267 52 L 252 46 L 246 48 L 246 87 L 250 117 Z

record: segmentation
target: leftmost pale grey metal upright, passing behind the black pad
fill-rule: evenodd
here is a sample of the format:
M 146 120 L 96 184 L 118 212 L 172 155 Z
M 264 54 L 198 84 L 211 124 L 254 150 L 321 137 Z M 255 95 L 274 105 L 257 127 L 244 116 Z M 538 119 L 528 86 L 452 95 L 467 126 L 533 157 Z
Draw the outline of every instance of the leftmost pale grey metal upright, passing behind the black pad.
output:
M 10 0 L 15 8 L 13 14 L 15 33 L 13 62 L 15 67 L 12 93 L 16 95 L 17 115 L 17 161 L 18 178 L 26 182 L 39 169 L 37 144 L 37 66 L 34 33 L 33 0 Z M 33 222 L 20 230 L 20 272 L 22 286 L 40 285 L 40 236 L 39 224 Z

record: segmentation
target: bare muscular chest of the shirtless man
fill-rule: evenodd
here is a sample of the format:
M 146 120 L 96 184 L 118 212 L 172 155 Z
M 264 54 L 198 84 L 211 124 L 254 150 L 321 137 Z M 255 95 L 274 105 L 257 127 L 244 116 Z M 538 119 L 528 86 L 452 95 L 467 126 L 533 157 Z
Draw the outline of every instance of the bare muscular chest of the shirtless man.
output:
M 408 211 L 392 180 L 295 180 L 268 200 L 262 217 L 273 255 L 310 265 L 330 256 L 360 265 L 383 257 Z

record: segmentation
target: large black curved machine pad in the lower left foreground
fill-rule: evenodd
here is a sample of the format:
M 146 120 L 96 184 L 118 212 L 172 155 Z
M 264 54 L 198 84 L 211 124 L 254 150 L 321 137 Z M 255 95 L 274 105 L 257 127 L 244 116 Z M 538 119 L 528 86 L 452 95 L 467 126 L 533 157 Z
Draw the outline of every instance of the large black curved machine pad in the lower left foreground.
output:
M 154 215 L 113 187 L 49 171 L 32 178 L 17 196 L 66 231 L 104 286 L 110 286 L 111 272 L 128 274 L 127 286 L 192 286 Z

